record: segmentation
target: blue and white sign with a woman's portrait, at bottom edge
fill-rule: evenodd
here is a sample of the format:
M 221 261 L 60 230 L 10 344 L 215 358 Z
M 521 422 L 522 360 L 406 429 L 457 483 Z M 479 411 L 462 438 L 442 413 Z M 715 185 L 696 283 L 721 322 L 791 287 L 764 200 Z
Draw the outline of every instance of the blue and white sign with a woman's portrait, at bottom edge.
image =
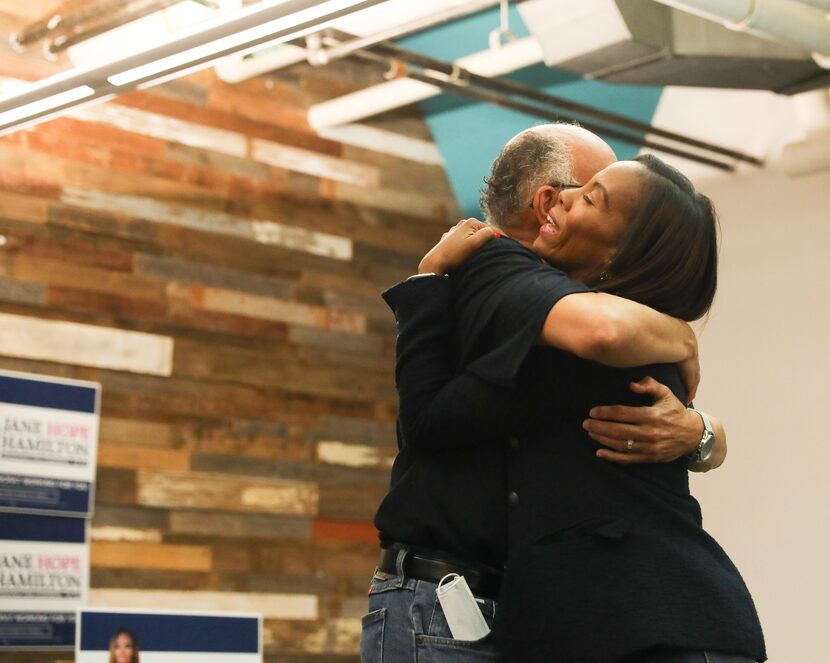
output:
M 262 615 L 82 609 L 77 621 L 76 663 L 262 663 Z

